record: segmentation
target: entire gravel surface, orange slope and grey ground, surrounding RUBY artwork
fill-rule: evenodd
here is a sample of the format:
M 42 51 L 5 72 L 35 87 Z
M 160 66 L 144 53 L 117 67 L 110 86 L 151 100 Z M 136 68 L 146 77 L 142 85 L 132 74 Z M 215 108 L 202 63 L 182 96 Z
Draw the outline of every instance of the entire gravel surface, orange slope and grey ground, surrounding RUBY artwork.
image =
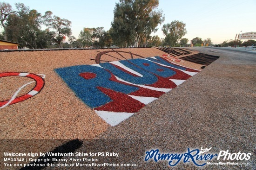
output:
M 251 152 L 252 158 L 247 161 L 251 165 L 206 165 L 203 169 L 255 169 L 256 56 L 195 49 L 220 58 L 114 127 L 108 126 L 77 99 L 54 72 L 55 68 L 94 64 L 95 61 L 90 58 L 94 59 L 99 52 L 68 50 L 0 53 L 3 63 L 0 72 L 46 75 L 45 87 L 39 94 L 0 110 L 0 137 L 81 139 L 83 145 L 75 152 L 117 152 L 120 155 L 118 158 L 99 157 L 99 162 L 138 164 L 136 169 L 141 170 L 169 169 L 166 161 L 143 161 L 145 151 L 151 149 L 159 149 L 162 153 L 182 153 L 187 148 L 212 147 L 213 153 L 221 150 L 229 150 L 231 153 Z M 156 49 L 133 49 L 132 52 L 144 57 L 164 54 Z M 182 62 L 182 65 L 195 69 L 202 66 L 190 62 Z M 13 88 L 12 84 L 10 88 Z M 11 95 L 11 90 L 6 91 L 6 94 Z M 27 93 L 26 90 L 23 93 Z M 1 99 L 5 96 L 2 95 Z M 54 148 L 51 146 L 54 142 L 46 141 L 37 141 L 38 152 Z M 1 145 L 11 150 L 7 142 L 1 141 Z M 65 141 L 56 141 L 55 146 L 60 143 Z M 28 151 L 31 148 L 24 152 Z M 172 169 L 194 170 L 198 167 L 186 163 Z

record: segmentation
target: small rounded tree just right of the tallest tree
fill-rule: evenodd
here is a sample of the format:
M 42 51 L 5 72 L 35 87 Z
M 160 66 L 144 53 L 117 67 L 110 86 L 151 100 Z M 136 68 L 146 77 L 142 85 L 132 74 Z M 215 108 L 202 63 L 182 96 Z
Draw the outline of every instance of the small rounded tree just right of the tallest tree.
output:
M 175 46 L 178 39 L 182 38 L 186 33 L 186 24 L 182 21 L 172 21 L 171 24 L 164 24 L 162 27 L 163 34 L 166 36 L 165 44 Z

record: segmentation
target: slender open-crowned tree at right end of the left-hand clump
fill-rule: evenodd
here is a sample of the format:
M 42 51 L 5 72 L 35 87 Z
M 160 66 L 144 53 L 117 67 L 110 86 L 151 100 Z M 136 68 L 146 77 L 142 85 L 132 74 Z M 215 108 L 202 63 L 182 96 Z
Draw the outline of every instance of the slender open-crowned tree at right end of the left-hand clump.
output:
M 44 15 L 44 22 L 47 26 L 49 26 L 50 28 L 52 28 L 56 35 L 55 35 L 55 42 L 58 44 L 59 48 L 61 48 L 61 42 L 63 40 L 63 36 L 67 36 L 70 37 L 72 34 L 71 31 L 71 21 L 67 20 L 67 19 L 61 19 L 58 16 L 52 16 L 52 12 L 51 11 L 47 11 L 45 12 Z

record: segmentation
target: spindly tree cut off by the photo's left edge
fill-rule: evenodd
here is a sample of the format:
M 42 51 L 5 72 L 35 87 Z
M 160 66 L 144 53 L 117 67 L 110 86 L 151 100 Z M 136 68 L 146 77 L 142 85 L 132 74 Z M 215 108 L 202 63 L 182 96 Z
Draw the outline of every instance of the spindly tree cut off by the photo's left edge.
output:
M 12 9 L 12 6 L 9 3 L 5 2 L 0 2 L 0 21 L 1 21 L 1 26 L 4 28 L 4 31 L 7 31 L 6 25 L 4 21 L 7 20 L 7 17 L 10 14 L 13 14 L 14 11 Z M 7 35 L 4 35 L 4 39 L 7 40 Z

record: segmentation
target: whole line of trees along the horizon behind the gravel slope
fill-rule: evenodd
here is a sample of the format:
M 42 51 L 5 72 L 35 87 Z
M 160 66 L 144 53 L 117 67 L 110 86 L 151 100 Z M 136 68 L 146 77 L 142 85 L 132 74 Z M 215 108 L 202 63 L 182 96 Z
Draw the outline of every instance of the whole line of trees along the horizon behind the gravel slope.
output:
M 20 43 L 21 48 L 29 49 L 110 47 L 114 44 L 120 47 L 185 46 L 188 39 L 182 37 L 187 30 L 182 21 L 164 24 L 164 38 L 152 37 L 151 34 L 164 21 L 164 14 L 158 6 L 159 0 L 119 0 L 115 4 L 114 18 L 108 31 L 101 26 L 84 27 L 76 39 L 72 36 L 71 21 L 68 19 L 55 16 L 51 11 L 41 14 L 23 3 L 16 3 L 13 9 L 9 3 L 0 2 L 0 23 L 3 28 L 0 39 Z M 67 37 L 67 42 L 64 37 Z M 176 44 L 178 41 L 180 44 Z M 202 38 L 196 37 L 192 43 L 211 44 L 211 39 L 202 41 Z M 242 45 L 242 41 L 238 44 Z M 251 42 L 245 45 L 248 44 Z

